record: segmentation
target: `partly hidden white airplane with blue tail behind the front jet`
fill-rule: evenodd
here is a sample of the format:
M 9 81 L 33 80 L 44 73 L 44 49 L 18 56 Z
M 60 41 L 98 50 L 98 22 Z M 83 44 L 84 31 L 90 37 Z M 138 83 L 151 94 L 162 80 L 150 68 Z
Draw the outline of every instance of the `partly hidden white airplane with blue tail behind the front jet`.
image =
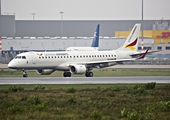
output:
M 100 29 L 100 24 L 97 25 L 96 31 L 94 32 L 94 37 L 93 37 L 91 47 L 68 47 L 66 49 L 66 51 L 93 51 L 93 50 L 98 50 L 99 29 Z

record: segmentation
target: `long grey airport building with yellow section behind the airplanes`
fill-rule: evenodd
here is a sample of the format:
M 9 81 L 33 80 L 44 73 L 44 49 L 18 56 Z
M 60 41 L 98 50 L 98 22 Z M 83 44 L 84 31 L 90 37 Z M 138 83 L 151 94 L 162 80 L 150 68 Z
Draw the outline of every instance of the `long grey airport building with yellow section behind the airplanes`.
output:
M 100 24 L 99 49 L 117 49 L 136 23 L 141 23 L 143 30 L 138 49 L 161 50 L 153 56 L 170 58 L 170 20 L 15 20 L 15 14 L 10 13 L 0 16 L 0 63 L 8 63 L 25 51 L 90 46 L 97 24 Z

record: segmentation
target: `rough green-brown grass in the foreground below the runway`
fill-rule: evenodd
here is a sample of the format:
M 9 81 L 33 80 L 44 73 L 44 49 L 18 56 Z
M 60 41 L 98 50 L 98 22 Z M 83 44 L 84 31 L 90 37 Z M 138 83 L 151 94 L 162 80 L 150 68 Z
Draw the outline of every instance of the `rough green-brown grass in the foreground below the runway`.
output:
M 170 84 L 0 85 L 1 119 L 170 119 Z

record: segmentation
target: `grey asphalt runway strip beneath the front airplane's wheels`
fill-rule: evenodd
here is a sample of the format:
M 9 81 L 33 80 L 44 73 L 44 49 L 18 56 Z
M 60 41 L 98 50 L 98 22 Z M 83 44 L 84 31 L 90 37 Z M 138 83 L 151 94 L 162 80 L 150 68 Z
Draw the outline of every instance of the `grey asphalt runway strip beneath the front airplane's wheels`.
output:
M 0 78 L 0 84 L 130 84 L 148 82 L 169 83 L 170 76 Z

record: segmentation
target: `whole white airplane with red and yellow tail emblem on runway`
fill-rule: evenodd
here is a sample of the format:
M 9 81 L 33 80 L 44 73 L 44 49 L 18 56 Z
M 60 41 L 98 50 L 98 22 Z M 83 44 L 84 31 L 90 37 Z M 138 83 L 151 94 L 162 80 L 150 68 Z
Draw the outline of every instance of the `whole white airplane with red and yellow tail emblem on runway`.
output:
M 93 68 L 105 68 L 124 61 L 143 59 L 147 54 L 138 52 L 140 24 L 135 24 L 123 46 L 109 51 L 63 51 L 63 52 L 25 52 L 12 59 L 8 67 L 23 70 L 36 70 L 40 75 L 50 75 L 54 71 L 63 71 L 64 77 L 72 74 L 85 74 L 93 77 Z

